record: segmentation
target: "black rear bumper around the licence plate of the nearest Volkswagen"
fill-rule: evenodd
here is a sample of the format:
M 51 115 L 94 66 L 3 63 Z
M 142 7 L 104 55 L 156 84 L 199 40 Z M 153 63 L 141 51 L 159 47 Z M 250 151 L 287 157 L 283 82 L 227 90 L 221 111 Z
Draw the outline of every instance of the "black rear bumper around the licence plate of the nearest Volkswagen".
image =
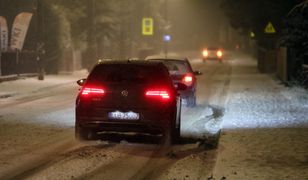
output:
M 149 133 L 158 134 L 170 128 L 177 121 L 179 106 L 152 108 L 135 108 L 129 111 L 139 114 L 138 120 L 110 119 L 109 113 L 114 111 L 128 112 L 121 108 L 99 108 L 93 106 L 76 106 L 76 127 L 93 132 L 115 133 Z

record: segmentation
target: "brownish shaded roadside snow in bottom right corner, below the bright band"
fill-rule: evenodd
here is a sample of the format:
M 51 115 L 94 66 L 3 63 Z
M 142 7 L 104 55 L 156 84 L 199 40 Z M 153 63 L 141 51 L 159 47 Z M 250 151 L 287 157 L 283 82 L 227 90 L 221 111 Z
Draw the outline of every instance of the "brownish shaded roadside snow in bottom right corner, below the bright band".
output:
M 242 129 L 222 133 L 214 177 L 228 180 L 307 179 L 308 131 Z

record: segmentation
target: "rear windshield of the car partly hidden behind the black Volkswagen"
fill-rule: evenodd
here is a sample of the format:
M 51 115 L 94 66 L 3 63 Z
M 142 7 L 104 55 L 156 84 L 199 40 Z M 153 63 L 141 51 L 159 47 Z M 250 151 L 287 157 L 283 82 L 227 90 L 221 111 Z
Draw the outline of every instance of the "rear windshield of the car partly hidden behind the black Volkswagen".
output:
M 171 75 L 173 74 L 186 74 L 191 72 L 189 65 L 185 61 L 178 60 L 151 60 L 151 61 L 160 61 L 162 62 L 169 70 Z

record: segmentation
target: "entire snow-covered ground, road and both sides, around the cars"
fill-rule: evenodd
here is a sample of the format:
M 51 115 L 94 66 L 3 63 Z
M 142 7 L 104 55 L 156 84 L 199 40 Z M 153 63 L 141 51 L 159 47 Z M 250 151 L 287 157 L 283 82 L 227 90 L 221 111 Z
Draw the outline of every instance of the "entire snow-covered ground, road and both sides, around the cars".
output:
M 249 56 L 192 65 L 198 105 L 183 108 L 183 142 L 167 147 L 76 141 L 86 72 L 0 83 L 0 179 L 307 179 L 306 91 L 259 74 Z

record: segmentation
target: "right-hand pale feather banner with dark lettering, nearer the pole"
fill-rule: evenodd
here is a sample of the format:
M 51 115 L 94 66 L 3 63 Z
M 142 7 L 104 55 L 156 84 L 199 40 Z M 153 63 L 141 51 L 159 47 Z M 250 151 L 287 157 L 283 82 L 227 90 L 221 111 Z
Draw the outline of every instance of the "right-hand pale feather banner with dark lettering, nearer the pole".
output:
M 22 12 L 15 17 L 12 27 L 11 49 L 22 50 L 32 15 L 32 13 Z

